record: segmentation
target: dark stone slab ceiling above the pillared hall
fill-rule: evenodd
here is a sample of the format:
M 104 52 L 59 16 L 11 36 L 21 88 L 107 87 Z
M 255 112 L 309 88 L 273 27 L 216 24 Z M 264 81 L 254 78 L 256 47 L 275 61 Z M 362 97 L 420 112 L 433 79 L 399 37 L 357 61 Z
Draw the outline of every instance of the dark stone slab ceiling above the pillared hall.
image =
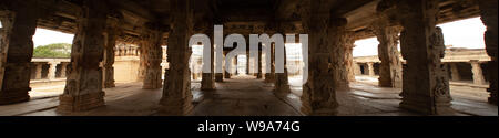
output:
M 75 32 L 75 14 L 82 0 L 48 0 L 51 14 L 39 20 L 39 28 L 67 33 Z M 110 10 L 123 14 L 124 34 L 120 38 L 138 38 L 144 23 L 156 22 L 169 25 L 171 22 L 170 0 L 108 0 Z M 196 7 L 193 0 L 192 6 Z M 208 0 L 216 23 L 225 28 L 231 25 L 254 29 L 275 21 L 293 21 L 299 24 L 299 3 L 304 0 Z M 327 1 L 327 0 L 318 0 Z M 374 36 L 368 25 L 375 20 L 376 7 L 380 0 L 329 0 L 332 14 L 348 20 L 348 29 L 356 31 L 360 38 Z M 439 23 L 478 17 L 478 6 L 473 0 L 440 0 Z M 200 2 L 202 3 L 202 2 Z M 205 2 L 204 2 L 205 3 Z M 47 6 L 43 6 L 47 7 Z M 196 12 L 196 10 L 194 10 Z M 255 26 L 256 25 L 256 26 Z M 244 26 L 244 28 L 243 28 Z M 301 25 L 297 25 L 301 26 Z M 227 30 L 230 31 L 230 30 Z M 235 32 L 237 32 L 236 30 Z M 242 32 L 245 34 L 245 32 Z M 248 33 L 248 32 L 246 32 Z M 167 35 L 165 35 L 167 36 Z

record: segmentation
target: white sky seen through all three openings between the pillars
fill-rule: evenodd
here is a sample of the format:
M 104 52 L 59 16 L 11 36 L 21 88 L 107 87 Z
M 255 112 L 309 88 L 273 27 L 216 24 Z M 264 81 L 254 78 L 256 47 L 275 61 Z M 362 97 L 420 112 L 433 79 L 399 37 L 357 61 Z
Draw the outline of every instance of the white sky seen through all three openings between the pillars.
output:
M 444 23 L 438 26 L 444 30 L 446 45 L 452 45 L 452 47 L 485 49 L 483 33 L 486 26 L 480 18 Z M 33 43 L 35 47 L 51 43 L 72 43 L 73 36 L 73 34 L 58 31 L 37 29 Z M 354 56 L 377 55 L 378 44 L 376 38 L 358 40 L 355 42 Z

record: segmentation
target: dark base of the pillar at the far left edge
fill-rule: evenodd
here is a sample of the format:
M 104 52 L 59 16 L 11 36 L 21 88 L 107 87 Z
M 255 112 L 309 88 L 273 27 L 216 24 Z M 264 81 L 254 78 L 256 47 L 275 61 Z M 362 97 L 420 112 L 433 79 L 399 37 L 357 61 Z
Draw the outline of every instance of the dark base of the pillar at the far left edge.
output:
M 0 105 L 16 104 L 30 100 L 28 92 L 30 87 L 22 89 L 10 89 L 0 92 Z

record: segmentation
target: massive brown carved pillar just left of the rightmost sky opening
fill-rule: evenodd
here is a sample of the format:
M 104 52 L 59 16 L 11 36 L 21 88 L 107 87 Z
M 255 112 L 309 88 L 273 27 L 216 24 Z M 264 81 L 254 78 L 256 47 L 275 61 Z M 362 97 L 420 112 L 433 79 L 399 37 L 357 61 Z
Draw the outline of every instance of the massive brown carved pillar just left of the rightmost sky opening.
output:
M 398 1 L 404 31 L 400 33 L 404 68 L 400 107 L 427 115 L 451 114 L 444 35 L 436 28 L 438 0 Z

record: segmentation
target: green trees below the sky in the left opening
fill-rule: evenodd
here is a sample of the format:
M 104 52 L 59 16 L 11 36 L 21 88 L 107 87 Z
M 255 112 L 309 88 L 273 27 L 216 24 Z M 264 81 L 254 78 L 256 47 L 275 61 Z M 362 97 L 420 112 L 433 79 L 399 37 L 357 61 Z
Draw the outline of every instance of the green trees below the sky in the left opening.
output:
M 53 43 L 34 49 L 33 57 L 71 57 L 71 44 Z

